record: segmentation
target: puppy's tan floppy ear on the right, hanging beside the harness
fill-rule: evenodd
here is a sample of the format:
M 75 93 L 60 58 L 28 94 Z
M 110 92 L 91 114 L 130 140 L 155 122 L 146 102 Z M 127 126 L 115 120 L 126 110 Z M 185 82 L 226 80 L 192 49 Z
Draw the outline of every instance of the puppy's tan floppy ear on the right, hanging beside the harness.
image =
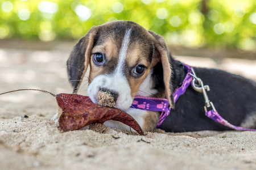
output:
M 171 64 L 168 48 L 166 45 L 166 41 L 162 36 L 157 35 L 152 31 L 148 31 L 156 40 L 155 41 L 155 55 L 159 57 L 160 61 L 162 62 L 163 66 L 163 78 L 164 78 L 164 86 L 166 91 L 166 98 L 169 101 L 170 107 L 174 108 L 174 96 L 172 95 L 173 87 L 171 84 L 172 74 L 171 74 Z

